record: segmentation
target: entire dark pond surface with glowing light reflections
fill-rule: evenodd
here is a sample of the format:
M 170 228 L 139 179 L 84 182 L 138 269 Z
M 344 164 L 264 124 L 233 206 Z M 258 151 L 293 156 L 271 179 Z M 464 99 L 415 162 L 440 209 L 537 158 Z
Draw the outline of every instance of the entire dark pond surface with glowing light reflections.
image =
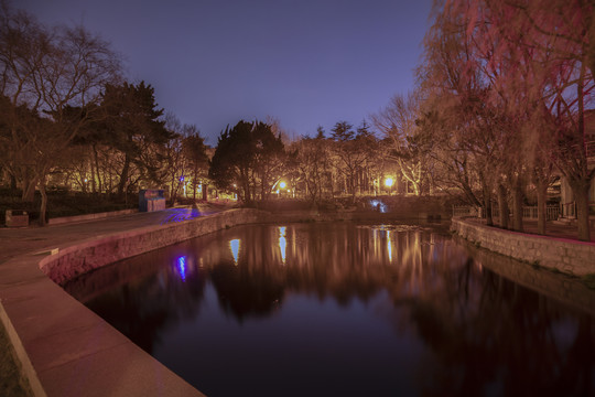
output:
M 66 289 L 213 397 L 595 395 L 593 315 L 416 226 L 242 226 Z

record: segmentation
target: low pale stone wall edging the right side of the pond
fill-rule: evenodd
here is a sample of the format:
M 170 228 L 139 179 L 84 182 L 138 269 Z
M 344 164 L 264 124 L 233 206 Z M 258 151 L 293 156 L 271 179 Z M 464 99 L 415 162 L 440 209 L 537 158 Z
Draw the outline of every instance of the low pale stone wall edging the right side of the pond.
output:
M 453 218 L 451 230 L 483 248 L 560 271 L 595 273 L 595 244 L 504 230 Z

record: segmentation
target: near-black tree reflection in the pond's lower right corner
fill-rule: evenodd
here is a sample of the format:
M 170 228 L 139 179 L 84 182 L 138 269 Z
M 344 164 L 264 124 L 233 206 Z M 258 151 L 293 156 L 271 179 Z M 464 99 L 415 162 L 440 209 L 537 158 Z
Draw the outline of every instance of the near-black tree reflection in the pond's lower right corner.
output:
M 421 366 L 425 395 L 587 396 L 595 389 L 595 328 L 554 301 L 468 261 L 463 285 L 409 302 L 433 355 Z M 466 291 L 474 290 L 478 299 Z M 456 298 L 456 299 L 448 299 Z

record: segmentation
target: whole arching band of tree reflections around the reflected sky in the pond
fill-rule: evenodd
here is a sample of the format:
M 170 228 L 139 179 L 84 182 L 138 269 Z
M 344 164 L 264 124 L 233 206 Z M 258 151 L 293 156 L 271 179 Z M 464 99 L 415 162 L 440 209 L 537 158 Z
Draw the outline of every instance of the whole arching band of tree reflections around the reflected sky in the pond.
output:
M 130 276 L 94 310 L 150 352 L 165 328 L 196 316 L 207 278 L 240 322 L 270 315 L 289 293 L 348 305 L 386 291 L 388 301 L 374 300 L 372 310 L 428 347 L 424 395 L 595 393 L 594 319 L 486 270 L 452 240 L 349 223 L 281 227 L 239 227 L 151 253 L 166 266 Z M 150 266 L 147 258 L 127 273 Z

